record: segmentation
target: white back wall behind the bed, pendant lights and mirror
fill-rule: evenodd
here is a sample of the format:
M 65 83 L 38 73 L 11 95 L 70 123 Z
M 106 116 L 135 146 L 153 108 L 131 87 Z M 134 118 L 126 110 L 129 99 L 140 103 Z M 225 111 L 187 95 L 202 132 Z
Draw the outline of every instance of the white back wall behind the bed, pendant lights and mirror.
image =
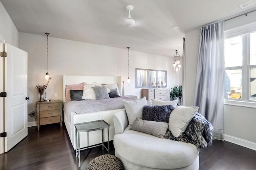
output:
M 46 36 L 19 33 L 19 48 L 28 52 L 28 112 L 35 110 L 39 94 L 37 84 L 46 83 Z M 135 68 L 167 70 L 167 85 L 172 87 L 179 82 L 172 67 L 173 58 L 136 52 L 130 48 L 130 86 L 125 81 L 125 95 L 141 96 L 140 89 L 135 88 Z M 48 38 L 48 72 L 52 77 L 46 89 L 47 98 L 62 99 L 62 75 L 95 75 L 128 77 L 128 50 Z M 177 80 L 176 80 L 177 79 Z M 58 93 L 58 97 L 54 97 Z M 28 122 L 34 121 L 28 118 Z

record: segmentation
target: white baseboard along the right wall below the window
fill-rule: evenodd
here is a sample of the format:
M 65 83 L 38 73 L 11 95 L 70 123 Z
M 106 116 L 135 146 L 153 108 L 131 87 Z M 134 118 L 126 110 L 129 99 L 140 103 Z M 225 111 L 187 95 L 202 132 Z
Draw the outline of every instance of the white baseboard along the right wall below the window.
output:
M 236 138 L 234 136 L 230 136 L 227 134 L 224 134 L 224 140 L 234 143 L 234 144 L 238 144 L 240 146 L 244 146 L 246 148 L 252 149 L 252 150 L 256 150 L 256 143 L 254 142 L 250 142 L 248 140 L 244 140 L 241 138 Z

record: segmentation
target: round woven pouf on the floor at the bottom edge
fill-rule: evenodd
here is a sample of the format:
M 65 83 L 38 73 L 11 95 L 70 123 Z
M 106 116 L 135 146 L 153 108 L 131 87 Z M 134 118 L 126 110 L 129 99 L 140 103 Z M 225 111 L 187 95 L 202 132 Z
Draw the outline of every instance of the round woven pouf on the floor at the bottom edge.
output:
M 124 170 L 120 159 L 114 155 L 100 155 L 94 158 L 86 170 Z

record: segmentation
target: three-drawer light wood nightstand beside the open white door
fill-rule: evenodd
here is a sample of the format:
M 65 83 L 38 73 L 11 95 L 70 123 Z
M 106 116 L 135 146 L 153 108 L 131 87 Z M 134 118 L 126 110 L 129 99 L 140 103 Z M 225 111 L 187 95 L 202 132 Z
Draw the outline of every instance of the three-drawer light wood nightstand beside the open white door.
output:
M 60 123 L 62 126 L 62 101 L 36 102 L 37 130 L 40 125 Z

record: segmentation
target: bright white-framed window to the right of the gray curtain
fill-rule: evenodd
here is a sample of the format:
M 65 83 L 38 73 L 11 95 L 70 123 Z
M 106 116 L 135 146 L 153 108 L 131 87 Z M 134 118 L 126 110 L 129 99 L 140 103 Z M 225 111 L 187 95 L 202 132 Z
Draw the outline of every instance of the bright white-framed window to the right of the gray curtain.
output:
M 256 28 L 225 36 L 225 98 L 256 102 Z

